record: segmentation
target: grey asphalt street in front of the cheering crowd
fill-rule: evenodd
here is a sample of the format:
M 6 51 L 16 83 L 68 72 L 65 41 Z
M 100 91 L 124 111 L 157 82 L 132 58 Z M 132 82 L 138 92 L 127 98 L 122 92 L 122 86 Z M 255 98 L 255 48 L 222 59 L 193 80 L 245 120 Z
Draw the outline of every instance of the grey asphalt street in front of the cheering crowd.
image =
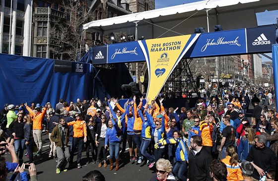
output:
M 261 103 L 260 103 L 260 106 Z M 263 107 L 263 106 L 262 106 Z M 268 106 L 272 109 L 275 106 Z M 253 112 L 253 107 L 249 107 L 249 113 L 247 114 L 248 119 L 251 118 Z M 149 179 L 155 175 L 155 166 L 151 170 L 147 167 L 146 160 L 143 160 L 141 164 L 130 163 L 128 150 L 121 155 L 121 164 L 119 171 L 115 172 L 109 171 L 109 165 L 104 168 L 98 168 L 98 163 L 85 165 L 87 162 L 85 151 L 82 152 L 81 166 L 82 168 L 73 168 L 68 172 L 61 172 L 61 174 L 56 174 L 56 164 L 57 158 L 48 160 L 48 148 L 49 139 L 48 134 L 43 133 L 43 152 L 40 157 L 34 158 L 34 163 L 36 165 L 37 175 L 39 181 L 82 181 L 82 177 L 92 170 L 100 171 L 106 178 L 106 181 L 149 181 Z M 26 150 L 24 150 L 26 153 Z M 9 153 L 3 155 L 6 161 L 11 161 Z M 28 158 L 23 155 L 24 162 L 28 161 Z M 76 163 L 76 156 L 74 156 L 73 163 Z M 109 161 L 107 162 L 109 163 Z M 115 166 L 114 166 L 115 169 Z M 27 172 L 28 173 L 28 172 Z M 8 174 L 11 176 L 11 173 Z

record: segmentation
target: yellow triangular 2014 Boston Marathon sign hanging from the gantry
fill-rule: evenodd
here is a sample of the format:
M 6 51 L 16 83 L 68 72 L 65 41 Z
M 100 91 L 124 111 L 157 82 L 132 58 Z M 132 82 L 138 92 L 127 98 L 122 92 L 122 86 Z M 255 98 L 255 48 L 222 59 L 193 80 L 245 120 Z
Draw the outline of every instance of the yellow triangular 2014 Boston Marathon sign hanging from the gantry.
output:
M 138 41 L 148 67 L 146 97 L 154 99 L 200 34 Z

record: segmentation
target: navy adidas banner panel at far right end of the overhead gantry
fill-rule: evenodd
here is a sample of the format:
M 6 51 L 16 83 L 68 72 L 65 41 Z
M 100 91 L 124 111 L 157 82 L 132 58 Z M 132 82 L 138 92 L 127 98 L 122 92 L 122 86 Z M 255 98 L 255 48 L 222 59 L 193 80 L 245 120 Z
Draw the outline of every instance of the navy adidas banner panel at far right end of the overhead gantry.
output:
M 272 45 L 275 44 L 275 29 L 275 26 L 247 28 L 247 52 L 271 52 Z

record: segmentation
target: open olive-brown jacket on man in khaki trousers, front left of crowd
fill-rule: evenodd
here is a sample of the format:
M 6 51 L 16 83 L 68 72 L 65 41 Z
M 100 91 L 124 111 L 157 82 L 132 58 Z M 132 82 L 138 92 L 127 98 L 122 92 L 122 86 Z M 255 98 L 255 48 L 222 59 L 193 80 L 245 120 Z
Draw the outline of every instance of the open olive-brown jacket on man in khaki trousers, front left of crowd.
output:
M 65 125 L 65 142 L 64 142 L 64 146 L 68 146 L 68 142 L 69 142 L 69 127 L 68 124 L 66 123 Z M 62 147 L 62 138 L 61 138 L 61 133 L 62 133 L 62 126 L 61 124 L 57 124 L 54 129 L 52 130 L 50 139 L 55 142 L 56 146 Z

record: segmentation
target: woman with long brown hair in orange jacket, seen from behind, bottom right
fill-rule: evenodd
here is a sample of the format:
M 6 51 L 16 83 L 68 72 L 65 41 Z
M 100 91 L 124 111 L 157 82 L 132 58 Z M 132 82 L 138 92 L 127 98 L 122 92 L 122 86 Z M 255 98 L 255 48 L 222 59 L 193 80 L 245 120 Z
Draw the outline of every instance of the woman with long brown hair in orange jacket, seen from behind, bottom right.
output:
M 236 153 L 234 146 L 227 146 L 226 148 L 226 158 L 222 159 L 228 171 L 227 181 L 243 181 L 242 172 L 239 165 L 237 164 L 238 155 Z

